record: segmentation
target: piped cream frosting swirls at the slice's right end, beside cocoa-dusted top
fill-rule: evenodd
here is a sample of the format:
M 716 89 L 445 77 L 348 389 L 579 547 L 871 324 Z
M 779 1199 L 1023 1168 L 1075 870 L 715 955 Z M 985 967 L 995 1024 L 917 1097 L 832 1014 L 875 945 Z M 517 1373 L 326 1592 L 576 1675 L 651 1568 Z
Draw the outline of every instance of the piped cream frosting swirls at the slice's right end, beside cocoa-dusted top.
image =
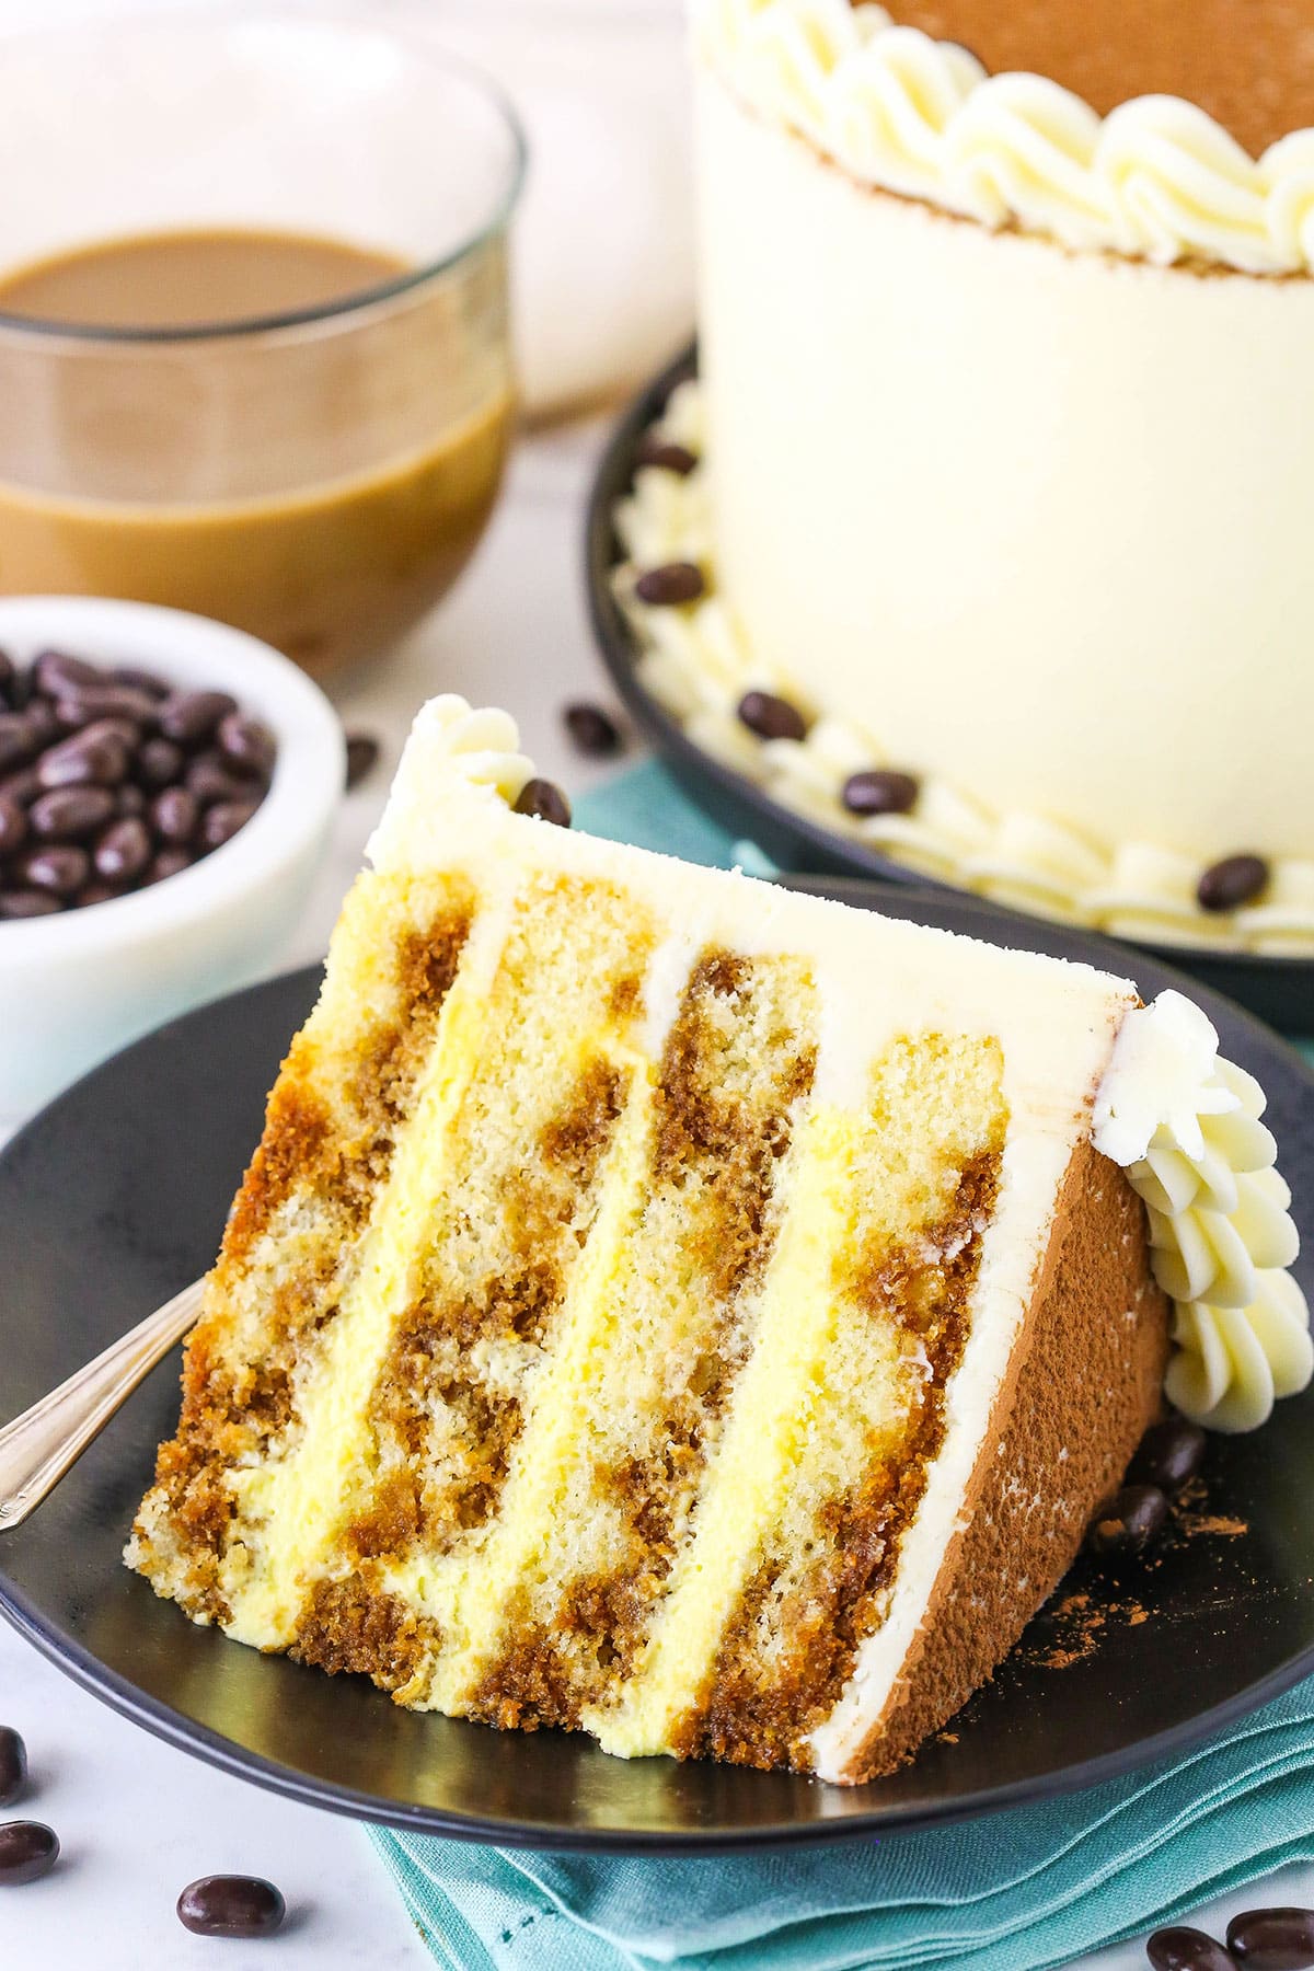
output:
M 1127 1015 L 1095 1094 L 1091 1141 L 1145 1198 L 1154 1277 L 1176 1305 L 1164 1392 L 1215 1431 L 1253 1431 L 1314 1370 L 1263 1110 L 1259 1084 L 1176 991 Z

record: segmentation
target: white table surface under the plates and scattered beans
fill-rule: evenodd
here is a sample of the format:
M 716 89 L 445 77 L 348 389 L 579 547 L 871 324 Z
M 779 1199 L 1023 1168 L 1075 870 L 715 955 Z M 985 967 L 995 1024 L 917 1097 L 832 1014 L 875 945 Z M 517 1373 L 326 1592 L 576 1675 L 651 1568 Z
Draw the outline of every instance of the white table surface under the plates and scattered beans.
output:
M 333 853 L 286 964 L 323 952 L 341 895 L 382 804 L 388 773 L 416 706 L 435 690 L 504 704 L 542 773 L 575 792 L 611 773 L 563 741 L 559 708 L 601 696 L 581 591 L 581 503 L 601 428 L 526 442 L 473 568 L 437 615 L 372 672 L 335 698 L 351 727 L 388 749 L 343 806 Z M 632 757 L 632 755 L 630 755 Z M 41 1971 L 169 1971 L 270 1963 L 280 1971 L 420 1971 L 429 1953 L 353 1821 L 294 1805 L 227 1778 L 128 1725 L 45 1664 L 0 1622 L 0 1723 L 28 1740 L 33 1788 L 18 1813 L 45 1819 L 63 1843 L 41 1882 L 0 1890 L 0 1965 Z M 173 1916 L 197 1874 L 266 1874 L 288 1896 L 278 1939 L 215 1943 L 189 1937 Z M 1231 1910 L 1255 1902 L 1314 1902 L 1314 1869 L 1288 1869 L 1200 1922 L 1221 1936 Z M 1141 1945 L 1082 1961 L 1082 1971 L 1133 1971 Z M 561 1971 L 569 1971 L 563 1957 Z

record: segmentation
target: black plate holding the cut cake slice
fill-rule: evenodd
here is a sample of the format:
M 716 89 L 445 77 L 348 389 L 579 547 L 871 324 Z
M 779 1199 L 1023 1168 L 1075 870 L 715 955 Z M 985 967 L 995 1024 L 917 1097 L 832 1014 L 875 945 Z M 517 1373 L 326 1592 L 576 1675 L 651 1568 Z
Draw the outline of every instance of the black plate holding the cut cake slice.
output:
M 1123 956 L 1022 918 L 1001 932 L 991 913 L 944 897 L 888 891 L 883 909 L 1099 964 Z M 1150 960 L 1135 974 L 1147 997 L 1182 984 Z M 0 1417 L 211 1261 L 266 1088 L 315 986 L 317 974 L 297 972 L 164 1027 L 61 1096 L 0 1157 Z M 1314 1259 L 1314 1074 L 1235 1007 L 1196 997 L 1225 1051 L 1269 1090 Z M 1312 1291 L 1308 1261 L 1302 1273 Z M 1149 1620 L 1111 1618 L 1093 1654 L 1056 1669 L 1044 1658 L 1066 1630 L 1042 1612 L 959 1715 L 953 1742 L 934 1740 L 904 1772 L 847 1790 L 666 1758 L 626 1764 L 581 1738 L 418 1717 L 364 1679 L 325 1677 L 193 1628 L 120 1565 L 156 1443 L 175 1417 L 177 1358 L 47 1504 L 0 1537 L 0 1608 L 79 1683 L 164 1738 L 278 1792 L 400 1827 L 705 1851 L 888 1831 L 1123 1772 L 1314 1667 L 1314 1392 L 1281 1403 L 1257 1435 L 1212 1443 L 1212 1510 L 1245 1520 L 1249 1533 L 1172 1545 L 1133 1585 Z

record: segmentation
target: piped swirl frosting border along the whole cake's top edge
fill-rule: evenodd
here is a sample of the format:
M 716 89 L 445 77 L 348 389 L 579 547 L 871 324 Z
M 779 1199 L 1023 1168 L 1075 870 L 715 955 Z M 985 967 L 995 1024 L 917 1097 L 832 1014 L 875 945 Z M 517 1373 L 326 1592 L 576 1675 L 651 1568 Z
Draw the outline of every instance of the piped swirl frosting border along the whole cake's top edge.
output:
M 1168 266 L 1314 266 L 1314 130 L 1255 160 L 1180 97 L 1099 116 L 1042 75 L 975 55 L 863 0 L 691 0 L 701 59 L 758 116 L 859 183 L 987 227 Z

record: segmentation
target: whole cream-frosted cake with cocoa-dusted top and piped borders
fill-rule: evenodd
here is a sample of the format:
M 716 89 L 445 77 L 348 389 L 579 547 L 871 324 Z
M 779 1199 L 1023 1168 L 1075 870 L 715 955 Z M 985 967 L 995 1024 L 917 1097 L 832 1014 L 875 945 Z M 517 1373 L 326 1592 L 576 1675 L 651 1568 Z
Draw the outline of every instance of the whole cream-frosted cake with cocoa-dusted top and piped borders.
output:
M 652 688 L 928 873 L 1314 952 L 1314 16 L 693 22 L 701 402 L 658 436 L 705 459 L 621 512 Z M 634 591 L 672 562 L 701 595 Z

